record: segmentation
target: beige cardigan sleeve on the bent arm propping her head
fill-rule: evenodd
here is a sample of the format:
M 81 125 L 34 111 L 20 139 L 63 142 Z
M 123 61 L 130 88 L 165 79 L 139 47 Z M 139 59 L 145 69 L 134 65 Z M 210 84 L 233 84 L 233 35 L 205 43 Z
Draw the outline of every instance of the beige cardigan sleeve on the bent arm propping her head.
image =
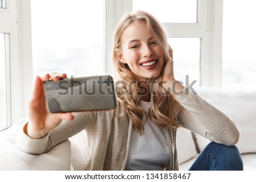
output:
M 199 95 L 186 88 L 177 101 L 181 105 L 179 123 L 182 127 L 226 146 L 238 142 L 240 133 L 232 119 Z

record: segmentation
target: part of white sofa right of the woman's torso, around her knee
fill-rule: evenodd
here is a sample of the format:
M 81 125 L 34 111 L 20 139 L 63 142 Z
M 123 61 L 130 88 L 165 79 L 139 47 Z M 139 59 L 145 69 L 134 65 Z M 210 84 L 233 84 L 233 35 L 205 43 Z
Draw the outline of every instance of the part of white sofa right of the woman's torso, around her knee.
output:
M 256 170 L 256 90 L 199 87 L 195 91 L 233 119 L 240 130 L 240 140 L 236 145 L 241 152 L 243 168 Z M 179 129 L 177 147 L 180 170 L 187 170 L 209 142 L 187 129 Z

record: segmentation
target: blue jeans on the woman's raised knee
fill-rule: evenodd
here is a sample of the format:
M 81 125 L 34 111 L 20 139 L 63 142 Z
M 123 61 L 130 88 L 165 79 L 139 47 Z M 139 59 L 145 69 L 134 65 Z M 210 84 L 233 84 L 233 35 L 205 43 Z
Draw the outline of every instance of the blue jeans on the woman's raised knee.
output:
M 243 171 L 243 162 L 236 146 L 210 142 L 189 171 Z

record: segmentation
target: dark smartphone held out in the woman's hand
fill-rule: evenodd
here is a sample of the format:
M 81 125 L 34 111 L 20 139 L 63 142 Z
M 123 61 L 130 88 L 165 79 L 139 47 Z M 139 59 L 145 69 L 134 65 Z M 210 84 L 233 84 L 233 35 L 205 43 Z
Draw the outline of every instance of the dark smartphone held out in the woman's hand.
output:
M 111 110 L 116 106 L 114 83 L 110 75 L 46 81 L 44 94 L 51 113 Z

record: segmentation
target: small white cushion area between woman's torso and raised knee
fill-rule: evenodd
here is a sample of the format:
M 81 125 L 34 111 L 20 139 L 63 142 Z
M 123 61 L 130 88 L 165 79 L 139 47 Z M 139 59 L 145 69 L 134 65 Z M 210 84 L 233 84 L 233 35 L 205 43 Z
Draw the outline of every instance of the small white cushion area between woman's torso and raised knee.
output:
M 177 129 L 177 153 L 179 164 L 187 162 L 197 155 L 195 142 L 193 142 L 191 131 L 180 127 Z

